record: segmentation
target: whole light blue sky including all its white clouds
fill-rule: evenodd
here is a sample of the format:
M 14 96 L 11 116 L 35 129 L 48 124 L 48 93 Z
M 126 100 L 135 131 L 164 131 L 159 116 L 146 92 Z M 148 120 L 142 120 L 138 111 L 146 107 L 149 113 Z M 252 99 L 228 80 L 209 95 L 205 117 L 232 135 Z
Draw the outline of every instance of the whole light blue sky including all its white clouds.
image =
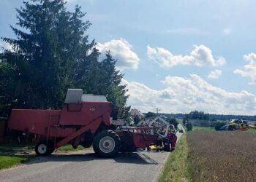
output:
M 118 60 L 132 108 L 256 114 L 256 1 L 69 0 L 67 8 L 75 4 L 97 48 Z M 0 1 L 0 36 L 14 36 L 20 5 Z

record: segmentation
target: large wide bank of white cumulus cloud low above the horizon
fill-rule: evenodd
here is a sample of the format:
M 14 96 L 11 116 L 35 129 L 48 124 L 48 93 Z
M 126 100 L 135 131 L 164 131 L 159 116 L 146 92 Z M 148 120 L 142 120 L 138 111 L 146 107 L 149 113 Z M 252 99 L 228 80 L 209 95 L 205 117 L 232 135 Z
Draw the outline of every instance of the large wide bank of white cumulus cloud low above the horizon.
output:
M 255 114 L 256 95 L 247 91 L 227 92 L 208 84 L 200 76 L 189 78 L 167 76 L 163 90 L 154 90 L 145 84 L 127 82 L 128 104 L 140 111 L 155 111 L 161 108 L 165 113 L 187 113 L 195 109 L 216 114 Z

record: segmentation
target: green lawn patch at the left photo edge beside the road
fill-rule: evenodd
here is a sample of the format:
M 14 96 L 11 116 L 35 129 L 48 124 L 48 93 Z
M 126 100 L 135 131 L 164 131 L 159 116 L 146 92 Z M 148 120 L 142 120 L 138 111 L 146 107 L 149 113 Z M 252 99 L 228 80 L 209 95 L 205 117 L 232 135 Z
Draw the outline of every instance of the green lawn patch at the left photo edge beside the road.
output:
M 21 165 L 24 162 L 29 162 L 34 157 L 27 157 L 27 156 L 7 156 L 7 155 L 0 155 L 0 170 L 10 168 L 15 165 Z

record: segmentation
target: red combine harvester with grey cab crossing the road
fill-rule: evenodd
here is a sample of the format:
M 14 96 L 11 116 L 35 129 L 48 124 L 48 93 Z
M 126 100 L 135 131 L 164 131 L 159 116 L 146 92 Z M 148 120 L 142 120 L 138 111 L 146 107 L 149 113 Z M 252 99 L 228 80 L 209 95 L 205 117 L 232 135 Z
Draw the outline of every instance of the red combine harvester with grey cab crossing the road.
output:
M 67 90 L 61 110 L 12 109 L 9 129 L 39 135 L 35 151 L 39 156 L 53 153 L 67 143 L 94 148 L 97 155 L 113 157 L 118 151 L 135 151 L 157 141 L 158 135 L 143 134 L 152 127 L 116 130 L 110 118 L 111 104 L 102 95 L 83 95 L 83 90 Z M 115 124 L 115 125 L 113 125 Z

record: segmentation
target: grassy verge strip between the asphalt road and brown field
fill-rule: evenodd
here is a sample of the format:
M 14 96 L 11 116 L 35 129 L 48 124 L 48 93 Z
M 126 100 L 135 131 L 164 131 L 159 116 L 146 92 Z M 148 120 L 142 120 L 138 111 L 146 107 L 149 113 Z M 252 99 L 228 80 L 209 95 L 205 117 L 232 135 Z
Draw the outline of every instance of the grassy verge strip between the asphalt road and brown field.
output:
M 167 159 L 162 175 L 159 177 L 159 182 L 162 181 L 190 181 L 187 157 L 189 148 L 187 144 L 186 134 L 181 136 L 174 151 Z

